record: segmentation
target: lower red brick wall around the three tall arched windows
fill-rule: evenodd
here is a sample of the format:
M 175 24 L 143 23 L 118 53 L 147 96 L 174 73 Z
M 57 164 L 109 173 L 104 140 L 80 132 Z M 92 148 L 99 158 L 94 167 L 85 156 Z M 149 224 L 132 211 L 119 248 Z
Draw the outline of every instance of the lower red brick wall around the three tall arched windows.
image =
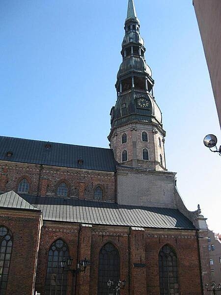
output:
M 201 295 L 195 231 L 81 225 L 79 236 L 78 233 L 78 224 L 45 222 L 38 256 L 36 291 L 44 294 L 48 250 L 57 238 L 62 238 L 74 258 L 73 269 L 76 268 L 77 256 L 78 260 L 86 257 L 91 263 L 85 273 L 77 275 L 76 295 L 97 294 L 99 252 L 108 242 L 118 249 L 120 255 L 120 279 L 126 280 L 121 295 L 159 295 L 158 254 L 165 244 L 169 244 L 177 254 L 180 295 Z M 70 272 L 67 295 L 72 294 L 72 285 Z

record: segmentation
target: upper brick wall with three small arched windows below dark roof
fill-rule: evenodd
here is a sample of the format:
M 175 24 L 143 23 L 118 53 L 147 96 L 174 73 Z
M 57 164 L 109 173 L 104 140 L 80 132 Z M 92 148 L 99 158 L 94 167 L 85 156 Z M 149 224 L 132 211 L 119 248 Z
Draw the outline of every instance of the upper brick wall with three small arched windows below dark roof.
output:
M 103 189 L 103 201 L 115 201 L 114 173 L 51 167 L 25 163 L 0 162 L 0 190 L 18 191 L 19 182 L 27 178 L 29 194 L 56 196 L 60 182 L 66 182 L 68 197 L 93 200 L 94 189 Z

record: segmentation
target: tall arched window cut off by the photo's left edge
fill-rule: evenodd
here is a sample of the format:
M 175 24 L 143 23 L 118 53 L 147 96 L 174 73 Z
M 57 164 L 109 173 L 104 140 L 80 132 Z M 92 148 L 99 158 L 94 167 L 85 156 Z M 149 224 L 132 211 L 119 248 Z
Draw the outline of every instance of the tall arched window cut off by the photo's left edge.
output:
M 8 272 L 11 261 L 12 233 L 0 227 L 0 294 L 6 294 Z

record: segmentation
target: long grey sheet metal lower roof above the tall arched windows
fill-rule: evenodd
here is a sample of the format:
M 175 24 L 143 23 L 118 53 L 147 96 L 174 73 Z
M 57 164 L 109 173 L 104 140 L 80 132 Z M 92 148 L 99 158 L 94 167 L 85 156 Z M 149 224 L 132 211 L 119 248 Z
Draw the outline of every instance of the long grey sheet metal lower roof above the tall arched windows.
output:
M 194 229 L 177 209 L 22 195 L 42 211 L 44 220 L 148 228 Z

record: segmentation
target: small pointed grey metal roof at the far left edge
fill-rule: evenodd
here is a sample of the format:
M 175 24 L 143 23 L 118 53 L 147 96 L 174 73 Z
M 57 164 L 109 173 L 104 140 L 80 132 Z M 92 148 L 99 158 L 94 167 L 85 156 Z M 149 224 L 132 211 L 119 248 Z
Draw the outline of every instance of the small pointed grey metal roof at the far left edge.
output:
M 10 191 L 0 195 L 0 207 L 4 207 L 8 209 L 12 208 L 12 209 L 40 211 L 40 209 L 28 203 L 28 201 L 24 200 L 14 191 Z

